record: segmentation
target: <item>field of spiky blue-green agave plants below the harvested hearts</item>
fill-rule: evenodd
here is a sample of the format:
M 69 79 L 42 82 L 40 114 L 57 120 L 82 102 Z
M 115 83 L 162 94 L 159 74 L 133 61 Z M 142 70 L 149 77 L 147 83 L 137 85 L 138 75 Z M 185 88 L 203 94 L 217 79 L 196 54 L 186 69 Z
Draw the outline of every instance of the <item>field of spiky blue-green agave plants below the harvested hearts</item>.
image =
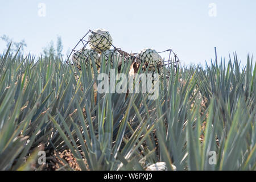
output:
M 100 73 L 117 72 L 101 61 Z M 130 66 L 119 72 L 128 76 Z M 1 53 L 0 170 L 145 170 L 158 162 L 167 170 L 255 170 L 255 68 L 252 57 L 240 65 L 234 54 L 171 68 L 156 100 L 95 97 L 94 61 L 79 70 L 59 57 Z

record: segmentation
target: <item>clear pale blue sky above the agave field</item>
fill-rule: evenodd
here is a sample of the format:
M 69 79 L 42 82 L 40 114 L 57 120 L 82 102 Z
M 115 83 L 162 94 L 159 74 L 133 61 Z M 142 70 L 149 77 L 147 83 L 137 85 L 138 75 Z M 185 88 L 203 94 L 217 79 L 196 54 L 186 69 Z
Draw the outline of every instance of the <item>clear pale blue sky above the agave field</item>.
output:
M 46 14 L 42 15 L 42 6 Z M 211 5 L 210 5 L 211 4 Z M 209 6 L 210 5 L 210 6 Z M 24 39 L 25 51 L 39 55 L 57 35 L 66 54 L 89 30 L 105 28 L 113 44 L 126 52 L 172 48 L 185 64 L 228 58 L 237 51 L 246 63 L 256 54 L 255 0 L 57 1 L 1 0 L 0 36 Z M 5 42 L 0 40 L 0 52 Z M 255 59 L 254 59 L 255 61 Z M 254 62 L 255 63 L 255 62 Z

